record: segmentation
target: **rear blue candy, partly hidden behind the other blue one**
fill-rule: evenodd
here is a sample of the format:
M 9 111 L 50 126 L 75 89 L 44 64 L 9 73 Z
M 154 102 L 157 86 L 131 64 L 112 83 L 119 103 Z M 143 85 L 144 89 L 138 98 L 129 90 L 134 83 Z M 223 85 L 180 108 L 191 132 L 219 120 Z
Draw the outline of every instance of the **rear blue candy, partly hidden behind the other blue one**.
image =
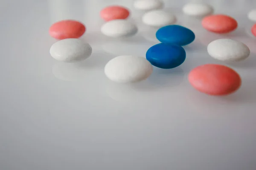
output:
M 176 45 L 188 45 L 195 40 L 195 34 L 188 28 L 170 25 L 159 28 L 156 37 L 160 42 Z

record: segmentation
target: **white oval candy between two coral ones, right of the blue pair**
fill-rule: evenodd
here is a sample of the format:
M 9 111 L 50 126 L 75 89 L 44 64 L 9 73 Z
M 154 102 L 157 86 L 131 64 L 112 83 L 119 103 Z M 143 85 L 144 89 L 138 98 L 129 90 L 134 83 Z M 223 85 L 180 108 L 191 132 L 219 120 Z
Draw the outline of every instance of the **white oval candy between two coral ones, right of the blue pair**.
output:
M 209 43 L 210 56 L 222 61 L 240 61 L 250 55 L 250 49 L 242 42 L 231 39 L 218 39 Z

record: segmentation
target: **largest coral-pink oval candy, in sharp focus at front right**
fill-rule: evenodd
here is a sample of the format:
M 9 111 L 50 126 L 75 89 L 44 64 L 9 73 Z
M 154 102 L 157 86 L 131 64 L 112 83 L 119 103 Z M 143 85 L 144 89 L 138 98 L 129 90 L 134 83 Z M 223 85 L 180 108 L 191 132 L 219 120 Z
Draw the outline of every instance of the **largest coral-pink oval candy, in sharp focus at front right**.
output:
M 189 82 L 198 91 L 219 96 L 238 90 L 241 78 L 236 71 L 227 66 L 206 64 L 190 71 Z

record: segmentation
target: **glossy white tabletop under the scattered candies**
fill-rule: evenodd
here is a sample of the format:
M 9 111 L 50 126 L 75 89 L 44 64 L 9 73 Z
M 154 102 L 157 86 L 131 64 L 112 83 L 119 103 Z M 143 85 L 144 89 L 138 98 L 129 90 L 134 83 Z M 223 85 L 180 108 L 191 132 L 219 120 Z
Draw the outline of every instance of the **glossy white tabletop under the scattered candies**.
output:
M 255 170 L 256 38 L 247 13 L 255 0 L 209 0 L 215 13 L 236 18 L 239 28 L 224 35 L 205 31 L 200 20 L 184 16 L 186 0 L 165 0 L 177 24 L 196 40 L 185 46 L 178 68 L 154 68 L 145 81 L 119 85 L 104 66 L 119 55 L 144 56 L 157 43 L 154 28 L 141 23 L 131 0 L 1 0 L 1 170 Z M 131 9 L 139 32 L 127 39 L 101 34 L 99 11 L 109 5 Z M 78 63 L 53 59 L 52 23 L 80 20 L 81 40 L 93 53 Z M 189 85 L 192 68 L 222 63 L 207 45 L 218 38 L 244 42 L 250 56 L 225 63 L 242 78 L 230 96 L 201 94 Z

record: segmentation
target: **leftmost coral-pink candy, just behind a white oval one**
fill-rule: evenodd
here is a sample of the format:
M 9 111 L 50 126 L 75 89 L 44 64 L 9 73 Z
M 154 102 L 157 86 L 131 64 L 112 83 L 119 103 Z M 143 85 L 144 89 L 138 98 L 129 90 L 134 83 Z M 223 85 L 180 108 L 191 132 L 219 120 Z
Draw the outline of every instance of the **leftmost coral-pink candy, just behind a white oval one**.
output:
M 85 26 L 74 20 L 63 20 L 52 24 L 49 29 L 49 34 L 58 39 L 79 38 L 85 32 Z

